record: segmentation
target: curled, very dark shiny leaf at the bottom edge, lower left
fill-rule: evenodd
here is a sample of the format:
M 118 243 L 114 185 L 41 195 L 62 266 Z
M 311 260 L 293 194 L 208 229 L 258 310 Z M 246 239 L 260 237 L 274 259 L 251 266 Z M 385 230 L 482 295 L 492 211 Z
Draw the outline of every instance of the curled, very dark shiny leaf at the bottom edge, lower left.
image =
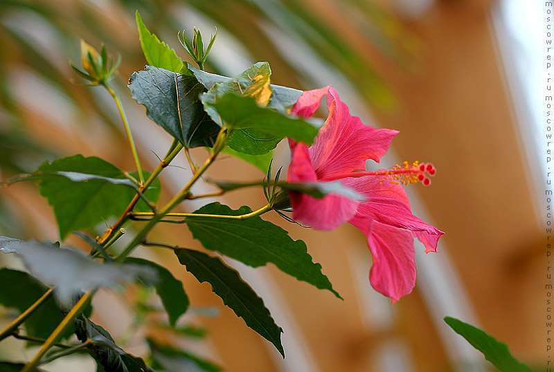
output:
M 94 342 L 89 350 L 105 372 L 155 372 L 141 358 L 123 351 L 107 330 L 89 319 L 75 319 L 75 335 L 81 342 Z

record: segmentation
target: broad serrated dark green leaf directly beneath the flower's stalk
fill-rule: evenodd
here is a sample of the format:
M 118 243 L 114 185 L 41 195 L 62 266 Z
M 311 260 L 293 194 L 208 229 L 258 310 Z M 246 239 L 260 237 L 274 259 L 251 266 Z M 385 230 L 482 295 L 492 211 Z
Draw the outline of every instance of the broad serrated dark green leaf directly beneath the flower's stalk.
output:
M 229 206 L 218 202 L 207 204 L 195 213 L 211 215 L 244 215 L 251 213 L 248 206 L 233 211 Z M 332 288 L 327 276 L 321 273 L 321 265 L 312 262 L 305 242 L 292 240 L 287 231 L 259 216 L 248 220 L 229 218 L 190 217 L 185 220 L 193 236 L 202 242 L 206 249 L 219 251 L 225 256 L 240 260 L 251 267 L 273 263 L 281 271 L 305 281 L 319 289 Z

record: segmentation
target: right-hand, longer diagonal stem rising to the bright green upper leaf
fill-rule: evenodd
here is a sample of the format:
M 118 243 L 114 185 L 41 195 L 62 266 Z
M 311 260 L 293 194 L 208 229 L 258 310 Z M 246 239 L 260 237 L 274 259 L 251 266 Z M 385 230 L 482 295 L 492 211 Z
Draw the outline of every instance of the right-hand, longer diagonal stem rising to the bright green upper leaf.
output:
M 148 221 L 148 224 L 145 224 L 145 226 L 141 229 L 141 231 L 139 231 L 139 233 L 136 234 L 132 242 L 130 242 L 129 245 L 125 247 L 123 252 L 121 252 L 121 254 L 116 258 L 116 263 L 123 262 L 123 260 L 125 260 L 125 258 L 127 258 L 127 256 L 129 256 L 129 254 L 132 252 L 134 247 L 141 244 L 145 240 L 145 237 L 150 232 L 150 230 L 152 230 L 152 228 L 162 218 L 164 218 L 168 213 L 170 213 L 170 211 L 174 209 L 175 206 L 177 206 L 179 203 L 185 200 L 186 197 L 188 197 L 188 195 L 190 194 L 190 188 L 193 187 L 193 184 L 195 184 L 195 182 L 211 166 L 211 164 L 217 157 L 217 154 L 219 154 L 222 148 L 224 147 L 227 136 L 229 136 L 229 131 L 227 131 L 226 128 L 222 128 L 222 130 L 220 130 L 220 133 L 217 134 L 217 139 L 215 140 L 215 144 L 213 145 L 213 152 L 211 156 L 208 157 L 208 159 L 206 159 L 206 161 L 204 162 L 204 165 L 200 167 L 197 170 L 197 172 L 195 172 L 195 174 L 193 175 L 192 178 L 190 178 L 186 186 L 181 191 L 179 191 L 179 193 L 175 195 L 175 197 L 173 197 L 173 199 L 170 200 L 170 202 L 168 202 L 168 204 L 166 204 L 166 206 L 164 206 L 163 209 L 159 211 L 159 213 L 152 216 L 152 219 Z

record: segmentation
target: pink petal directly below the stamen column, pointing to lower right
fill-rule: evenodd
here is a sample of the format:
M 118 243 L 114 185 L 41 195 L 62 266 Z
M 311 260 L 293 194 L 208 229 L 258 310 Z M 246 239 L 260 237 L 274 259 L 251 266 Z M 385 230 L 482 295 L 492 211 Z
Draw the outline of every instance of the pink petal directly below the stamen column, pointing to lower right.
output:
M 425 251 L 436 251 L 438 238 L 444 233 L 411 213 L 408 197 L 402 186 L 391 184 L 386 177 L 344 179 L 343 184 L 366 196 L 359 204 L 356 217 L 370 224 L 373 220 L 391 227 L 407 229 L 425 245 Z

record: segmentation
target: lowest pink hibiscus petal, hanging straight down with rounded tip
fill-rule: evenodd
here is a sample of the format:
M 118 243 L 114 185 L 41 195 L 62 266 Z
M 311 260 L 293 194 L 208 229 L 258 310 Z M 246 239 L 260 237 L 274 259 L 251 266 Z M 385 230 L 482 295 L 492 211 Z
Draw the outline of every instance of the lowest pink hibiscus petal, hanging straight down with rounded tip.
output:
M 409 294 L 415 285 L 413 236 L 410 231 L 353 218 L 350 222 L 367 236 L 373 255 L 369 281 L 377 292 L 391 297 L 393 302 Z M 359 224 L 361 225 L 359 226 Z

